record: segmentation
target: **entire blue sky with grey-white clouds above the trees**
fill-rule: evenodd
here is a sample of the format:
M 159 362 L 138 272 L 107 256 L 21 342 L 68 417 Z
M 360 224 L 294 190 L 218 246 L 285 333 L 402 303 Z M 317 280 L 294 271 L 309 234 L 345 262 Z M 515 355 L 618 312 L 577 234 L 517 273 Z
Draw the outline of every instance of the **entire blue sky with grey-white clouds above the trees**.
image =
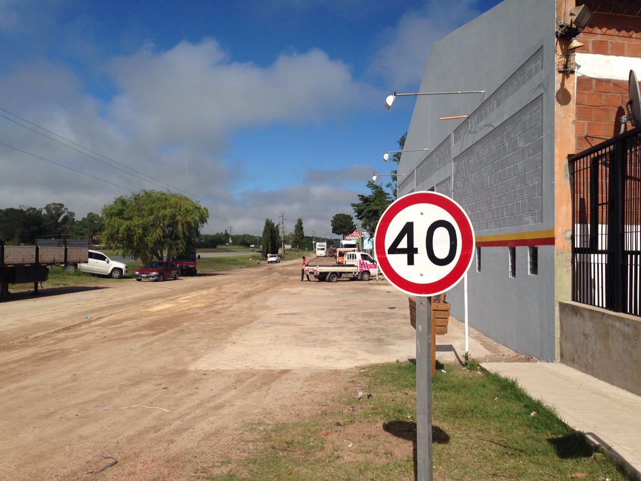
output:
M 0 208 L 169 189 L 206 233 L 285 214 L 331 235 L 410 123 L 385 96 L 497 3 L 0 0 Z

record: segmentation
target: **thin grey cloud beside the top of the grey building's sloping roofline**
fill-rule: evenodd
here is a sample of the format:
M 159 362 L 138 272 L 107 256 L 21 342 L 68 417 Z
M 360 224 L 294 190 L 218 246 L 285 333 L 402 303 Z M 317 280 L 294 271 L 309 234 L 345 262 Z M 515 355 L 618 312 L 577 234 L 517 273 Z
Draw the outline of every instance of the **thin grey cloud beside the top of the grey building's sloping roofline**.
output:
M 472 0 L 428 0 L 384 32 L 385 44 L 370 65 L 370 72 L 388 80 L 392 89 L 420 85 L 429 47 L 479 14 Z

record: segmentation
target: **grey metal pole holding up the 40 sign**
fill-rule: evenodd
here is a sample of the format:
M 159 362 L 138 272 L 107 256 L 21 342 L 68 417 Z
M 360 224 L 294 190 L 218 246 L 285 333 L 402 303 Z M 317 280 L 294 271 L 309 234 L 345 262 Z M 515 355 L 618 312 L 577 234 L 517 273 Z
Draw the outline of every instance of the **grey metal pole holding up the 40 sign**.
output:
M 416 298 L 416 464 L 417 481 L 432 481 L 432 309 L 427 296 Z

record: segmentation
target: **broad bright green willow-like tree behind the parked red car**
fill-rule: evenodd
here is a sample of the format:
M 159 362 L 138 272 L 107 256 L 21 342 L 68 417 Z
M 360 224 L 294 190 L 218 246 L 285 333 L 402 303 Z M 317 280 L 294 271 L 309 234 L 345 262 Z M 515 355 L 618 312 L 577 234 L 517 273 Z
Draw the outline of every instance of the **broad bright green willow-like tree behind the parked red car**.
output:
M 103 243 L 146 264 L 194 249 L 209 211 L 181 194 L 140 190 L 104 206 L 103 217 Z

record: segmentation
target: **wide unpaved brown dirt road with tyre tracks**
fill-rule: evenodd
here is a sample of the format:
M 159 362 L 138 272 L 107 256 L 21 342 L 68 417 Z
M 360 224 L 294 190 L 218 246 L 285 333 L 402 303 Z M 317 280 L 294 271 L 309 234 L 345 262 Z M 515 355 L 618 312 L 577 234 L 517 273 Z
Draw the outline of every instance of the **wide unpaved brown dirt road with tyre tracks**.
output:
M 300 282 L 299 269 L 0 303 L 0 479 L 219 474 L 249 423 L 317 409 L 345 369 L 413 357 L 406 296 L 382 280 Z M 170 412 L 113 409 L 133 405 Z M 103 455 L 118 463 L 87 475 Z

